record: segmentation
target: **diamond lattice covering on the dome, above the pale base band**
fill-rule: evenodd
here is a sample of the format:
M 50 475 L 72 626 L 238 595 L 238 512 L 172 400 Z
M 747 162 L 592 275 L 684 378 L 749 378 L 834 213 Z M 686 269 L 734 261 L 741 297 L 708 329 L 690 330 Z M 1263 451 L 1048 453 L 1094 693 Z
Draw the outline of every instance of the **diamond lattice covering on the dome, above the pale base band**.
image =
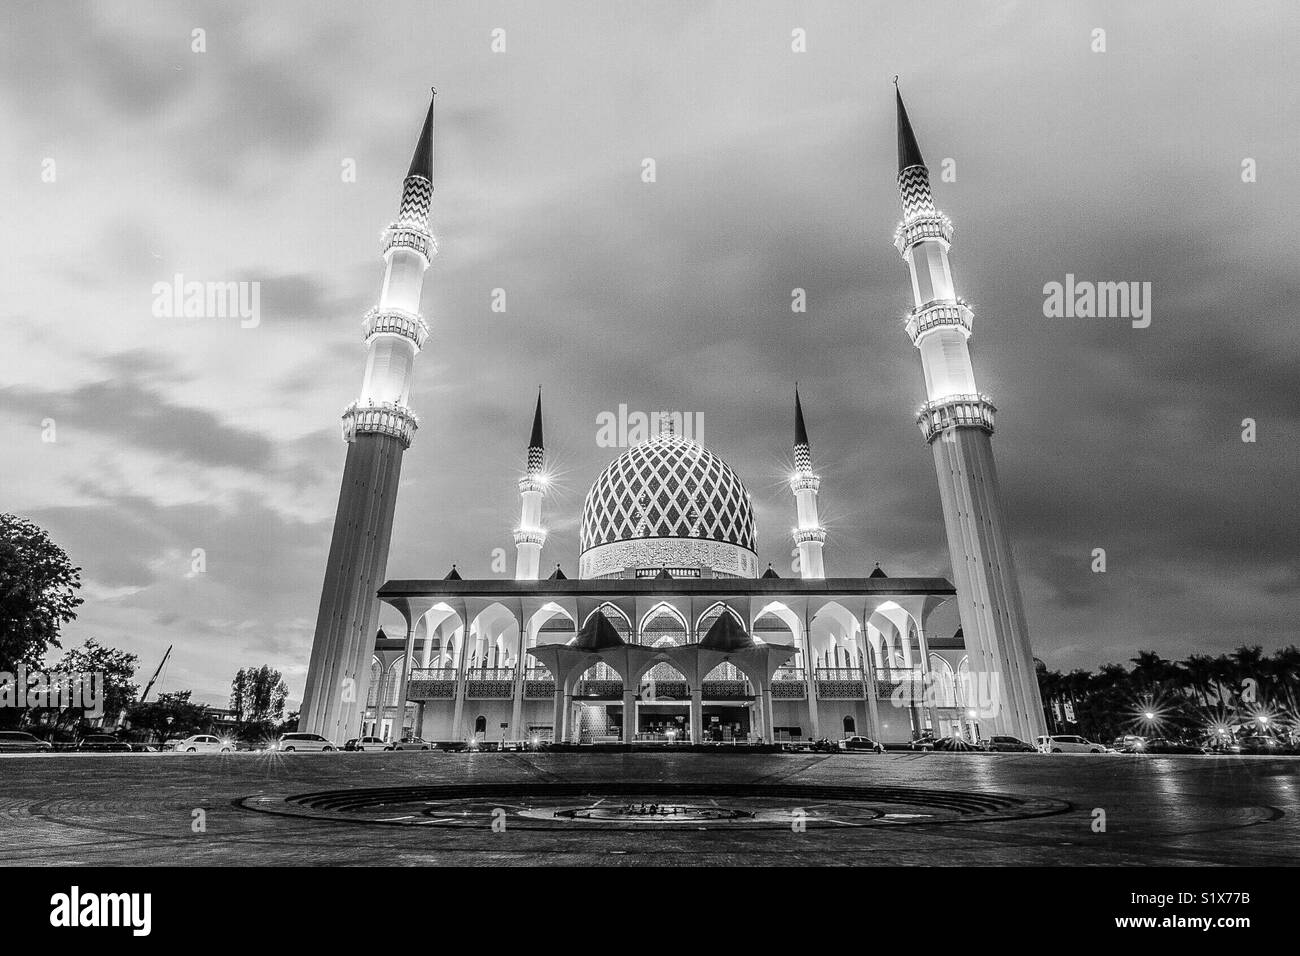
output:
M 703 445 L 655 436 L 601 472 L 582 507 L 584 551 L 638 537 L 701 537 L 755 550 L 749 492 Z

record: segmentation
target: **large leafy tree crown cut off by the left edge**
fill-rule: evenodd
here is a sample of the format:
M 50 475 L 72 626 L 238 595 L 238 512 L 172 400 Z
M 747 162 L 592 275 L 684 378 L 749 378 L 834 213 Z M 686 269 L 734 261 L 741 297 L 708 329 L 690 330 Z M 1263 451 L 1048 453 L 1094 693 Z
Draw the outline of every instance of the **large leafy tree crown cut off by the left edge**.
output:
M 26 518 L 0 515 L 0 670 L 40 667 L 77 618 L 81 568 Z

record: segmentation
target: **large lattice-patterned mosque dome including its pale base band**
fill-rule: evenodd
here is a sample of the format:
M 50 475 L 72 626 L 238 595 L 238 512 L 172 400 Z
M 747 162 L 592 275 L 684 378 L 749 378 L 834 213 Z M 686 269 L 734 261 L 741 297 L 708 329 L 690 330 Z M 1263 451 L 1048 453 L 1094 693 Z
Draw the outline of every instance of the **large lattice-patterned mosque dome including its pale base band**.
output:
M 582 506 L 578 572 L 757 574 L 754 507 L 744 483 L 697 441 L 667 432 L 601 472 Z

